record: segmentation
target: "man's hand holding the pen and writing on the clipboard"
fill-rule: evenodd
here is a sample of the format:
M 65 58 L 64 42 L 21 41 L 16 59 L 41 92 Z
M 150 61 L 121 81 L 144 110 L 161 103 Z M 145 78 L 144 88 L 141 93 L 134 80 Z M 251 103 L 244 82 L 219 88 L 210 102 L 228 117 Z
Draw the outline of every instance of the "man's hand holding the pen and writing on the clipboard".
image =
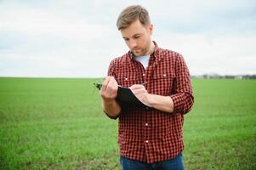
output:
M 147 105 L 151 107 L 150 103 L 150 97 L 151 94 L 147 93 L 145 87 L 141 84 L 134 84 L 133 86 L 130 87 L 134 95 L 143 103 L 144 105 Z

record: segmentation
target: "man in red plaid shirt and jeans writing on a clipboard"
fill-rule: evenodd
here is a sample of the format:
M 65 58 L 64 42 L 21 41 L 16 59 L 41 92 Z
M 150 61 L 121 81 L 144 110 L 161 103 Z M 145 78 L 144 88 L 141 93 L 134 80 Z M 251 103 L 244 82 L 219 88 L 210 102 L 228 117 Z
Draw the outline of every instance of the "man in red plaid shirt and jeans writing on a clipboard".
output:
M 100 96 L 106 115 L 119 118 L 122 169 L 184 169 L 182 126 L 194 102 L 185 60 L 151 40 L 153 25 L 139 5 L 123 9 L 117 28 L 130 51 L 111 61 Z M 118 85 L 130 88 L 145 107 L 118 101 Z

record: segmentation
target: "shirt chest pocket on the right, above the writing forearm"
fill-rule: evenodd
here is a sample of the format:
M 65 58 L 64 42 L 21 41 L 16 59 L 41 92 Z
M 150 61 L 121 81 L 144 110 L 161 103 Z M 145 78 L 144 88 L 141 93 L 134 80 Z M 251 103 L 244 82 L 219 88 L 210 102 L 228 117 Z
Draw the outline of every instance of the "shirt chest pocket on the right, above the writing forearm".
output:
M 152 77 L 152 86 L 151 86 L 151 93 L 162 95 L 162 96 L 169 96 L 174 94 L 174 86 L 176 77 L 174 73 L 171 72 L 155 72 Z

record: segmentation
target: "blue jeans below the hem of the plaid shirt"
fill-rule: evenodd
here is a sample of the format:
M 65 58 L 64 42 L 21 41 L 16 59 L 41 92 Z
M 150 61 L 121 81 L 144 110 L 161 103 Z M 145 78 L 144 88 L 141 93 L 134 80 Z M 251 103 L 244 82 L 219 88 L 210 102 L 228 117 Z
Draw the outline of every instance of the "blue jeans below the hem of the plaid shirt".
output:
M 174 159 L 156 163 L 134 161 L 120 156 L 120 163 L 122 165 L 122 170 L 184 170 L 181 153 L 174 157 Z

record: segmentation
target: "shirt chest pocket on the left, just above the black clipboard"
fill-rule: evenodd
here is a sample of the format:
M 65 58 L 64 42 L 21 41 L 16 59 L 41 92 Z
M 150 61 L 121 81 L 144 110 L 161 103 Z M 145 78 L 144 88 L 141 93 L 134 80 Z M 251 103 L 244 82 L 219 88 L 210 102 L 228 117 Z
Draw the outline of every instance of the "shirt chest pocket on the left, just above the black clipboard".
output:
M 120 75 L 117 77 L 117 83 L 118 85 L 129 88 L 130 86 L 134 84 L 138 84 L 138 76 L 137 75 Z

